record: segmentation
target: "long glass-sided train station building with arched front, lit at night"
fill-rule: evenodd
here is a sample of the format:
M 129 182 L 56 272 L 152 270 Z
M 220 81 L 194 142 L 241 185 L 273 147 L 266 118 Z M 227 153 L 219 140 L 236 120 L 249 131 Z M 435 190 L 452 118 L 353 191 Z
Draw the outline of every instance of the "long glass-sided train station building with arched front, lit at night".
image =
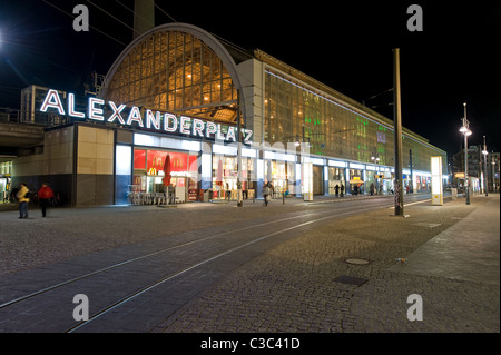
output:
M 246 198 L 261 198 L 267 181 L 278 197 L 305 199 L 342 185 L 345 194 L 393 189 L 393 120 L 191 24 L 138 36 L 96 96 L 59 89 L 21 92 L 20 122 L 45 129 L 12 159 L 11 184 L 47 181 L 71 206 L 155 203 L 167 156 L 179 203 L 236 199 L 238 174 Z M 405 128 L 402 141 L 405 190 L 429 190 L 430 159 L 448 161 L 445 151 Z

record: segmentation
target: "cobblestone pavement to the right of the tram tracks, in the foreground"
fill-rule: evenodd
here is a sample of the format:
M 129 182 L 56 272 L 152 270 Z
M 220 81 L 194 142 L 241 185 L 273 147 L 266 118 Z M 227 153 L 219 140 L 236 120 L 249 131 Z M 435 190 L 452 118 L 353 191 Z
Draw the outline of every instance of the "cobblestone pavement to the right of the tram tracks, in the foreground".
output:
M 321 226 L 250 260 L 202 297 L 165 319 L 155 332 L 393 333 L 500 332 L 499 195 L 497 208 L 498 282 L 405 273 L 397 264 L 475 208 L 482 197 L 445 207 L 414 205 L 409 218 L 380 209 Z M 494 201 L 494 203 L 492 203 Z M 362 258 L 367 265 L 352 265 Z M 416 263 L 419 263 L 416 260 Z M 429 265 L 440 268 L 440 260 Z M 464 268 L 468 268 L 464 265 Z M 358 285 L 336 280 L 353 276 Z M 411 294 L 423 300 L 423 321 L 410 322 Z

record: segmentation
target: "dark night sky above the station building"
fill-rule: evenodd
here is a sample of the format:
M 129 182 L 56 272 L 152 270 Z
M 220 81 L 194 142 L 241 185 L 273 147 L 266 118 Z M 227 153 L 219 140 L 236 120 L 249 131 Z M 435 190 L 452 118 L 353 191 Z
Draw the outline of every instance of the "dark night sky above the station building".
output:
M 73 31 L 72 17 L 61 12 L 71 14 L 78 3 L 89 9 L 89 32 Z M 485 135 L 488 149 L 500 150 L 499 1 L 156 3 L 177 22 L 259 48 L 357 101 L 392 88 L 392 49 L 400 48 L 403 126 L 452 156 L 463 141 L 468 102 L 469 144 L 482 144 Z M 412 3 L 423 9 L 422 32 L 407 30 Z M 126 7 L 134 1 L 2 1 L 0 107 L 18 108 L 20 89 L 31 83 L 82 95 L 90 72 L 106 75 L 131 41 Z M 166 13 L 156 9 L 157 24 L 173 22 Z M 393 119 L 392 100 L 386 92 L 366 105 Z

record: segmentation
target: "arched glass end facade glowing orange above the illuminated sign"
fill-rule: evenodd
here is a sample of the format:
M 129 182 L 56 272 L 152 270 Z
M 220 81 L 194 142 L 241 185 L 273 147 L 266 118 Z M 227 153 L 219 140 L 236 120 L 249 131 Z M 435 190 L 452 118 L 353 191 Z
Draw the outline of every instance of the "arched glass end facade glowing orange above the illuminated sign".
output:
M 199 38 L 156 31 L 137 43 L 108 78 L 105 99 L 234 122 L 237 91 L 220 58 Z

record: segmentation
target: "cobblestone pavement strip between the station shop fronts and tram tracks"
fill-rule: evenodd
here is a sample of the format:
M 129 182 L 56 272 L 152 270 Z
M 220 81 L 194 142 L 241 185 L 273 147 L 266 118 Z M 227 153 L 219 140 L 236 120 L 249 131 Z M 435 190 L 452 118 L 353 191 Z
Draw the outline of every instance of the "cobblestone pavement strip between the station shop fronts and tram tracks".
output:
M 0 205 L 0 275 L 18 273 L 72 257 L 174 236 L 188 230 L 242 223 L 262 217 L 262 203 L 183 204 L 157 206 L 106 206 L 92 208 L 29 208 L 18 219 L 17 206 Z M 273 200 L 268 216 L 304 210 L 301 200 L 282 205 Z M 116 211 L 116 213 L 115 213 Z

